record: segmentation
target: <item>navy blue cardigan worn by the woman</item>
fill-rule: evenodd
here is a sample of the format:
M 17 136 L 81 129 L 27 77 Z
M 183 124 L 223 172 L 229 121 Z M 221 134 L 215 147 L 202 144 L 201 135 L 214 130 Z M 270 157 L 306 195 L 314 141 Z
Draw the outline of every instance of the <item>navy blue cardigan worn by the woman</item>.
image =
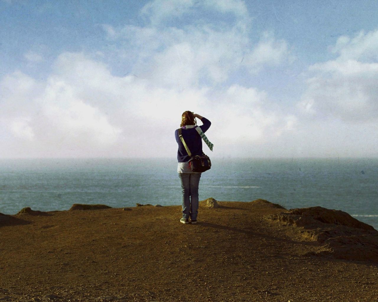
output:
M 205 133 L 211 125 L 211 122 L 206 119 L 202 118 L 201 122 L 203 123 L 200 128 L 202 129 L 203 133 Z M 201 155 L 202 154 L 202 138 L 200 134 L 198 134 L 195 128 L 190 129 L 183 129 L 182 131 L 183 138 L 185 140 L 186 145 L 188 146 L 189 150 L 192 153 L 192 156 Z M 177 151 L 177 160 L 179 163 L 188 162 L 190 157 L 186 152 L 186 149 L 181 142 L 180 137 L 178 136 L 178 129 L 175 131 L 176 142 L 178 143 L 178 151 Z

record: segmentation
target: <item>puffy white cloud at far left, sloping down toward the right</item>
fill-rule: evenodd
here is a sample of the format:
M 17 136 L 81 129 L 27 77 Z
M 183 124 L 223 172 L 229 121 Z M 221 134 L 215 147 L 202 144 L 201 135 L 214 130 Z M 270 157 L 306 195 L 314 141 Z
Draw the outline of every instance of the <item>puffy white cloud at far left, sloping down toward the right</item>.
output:
M 85 150 L 112 145 L 121 133 L 91 102 L 90 95 L 79 96 L 81 83 L 73 85 L 63 75 L 51 74 L 42 83 L 14 72 L 3 78 L 0 86 L 0 121 L 13 140 Z

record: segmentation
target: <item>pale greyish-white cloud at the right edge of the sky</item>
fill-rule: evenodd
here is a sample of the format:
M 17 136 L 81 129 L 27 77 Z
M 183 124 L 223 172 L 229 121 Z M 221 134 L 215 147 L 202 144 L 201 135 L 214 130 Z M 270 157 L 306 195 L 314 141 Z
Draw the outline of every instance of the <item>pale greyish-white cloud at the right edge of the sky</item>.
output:
M 335 60 L 308 69 L 307 89 L 299 107 L 313 116 L 365 123 L 378 119 L 378 30 L 340 37 Z

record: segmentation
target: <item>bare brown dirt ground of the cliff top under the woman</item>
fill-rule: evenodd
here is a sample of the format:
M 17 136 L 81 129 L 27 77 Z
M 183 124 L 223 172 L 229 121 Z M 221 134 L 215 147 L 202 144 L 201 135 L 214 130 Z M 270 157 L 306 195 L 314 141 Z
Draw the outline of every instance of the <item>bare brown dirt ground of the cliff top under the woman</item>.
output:
M 197 225 L 180 206 L 4 216 L 0 300 L 378 301 L 377 263 L 306 256 L 271 203 L 218 203 Z

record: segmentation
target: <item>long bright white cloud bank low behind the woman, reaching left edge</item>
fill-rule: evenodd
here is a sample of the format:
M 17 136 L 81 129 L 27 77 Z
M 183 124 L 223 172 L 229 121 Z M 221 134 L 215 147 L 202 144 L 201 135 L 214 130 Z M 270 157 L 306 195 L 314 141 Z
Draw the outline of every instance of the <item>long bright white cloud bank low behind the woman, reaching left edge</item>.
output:
M 0 120 L 11 125 L 15 139 L 49 156 L 165 156 L 167 149 L 174 154 L 173 132 L 186 110 L 215 117 L 209 134 L 219 148 L 238 140 L 264 142 L 290 130 L 294 121 L 270 108 L 267 94 L 254 88 L 166 88 L 131 75 L 116 77 L 81 53 L 61 54 L 43 83 L 17 72 L 1 84 L 9 88 L 2 100 L 12 106 Z

